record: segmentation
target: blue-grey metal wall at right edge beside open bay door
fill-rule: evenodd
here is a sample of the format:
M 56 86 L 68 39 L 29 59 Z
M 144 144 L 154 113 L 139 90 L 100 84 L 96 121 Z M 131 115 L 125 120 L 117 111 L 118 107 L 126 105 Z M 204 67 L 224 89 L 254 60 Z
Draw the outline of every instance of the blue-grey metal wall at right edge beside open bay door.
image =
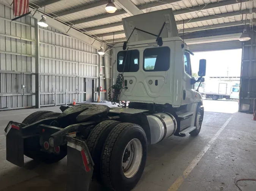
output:
M 251 40 L 244 42 L 242 53 L 239 111 L 253 110 L 256 99 L 256 32 Z

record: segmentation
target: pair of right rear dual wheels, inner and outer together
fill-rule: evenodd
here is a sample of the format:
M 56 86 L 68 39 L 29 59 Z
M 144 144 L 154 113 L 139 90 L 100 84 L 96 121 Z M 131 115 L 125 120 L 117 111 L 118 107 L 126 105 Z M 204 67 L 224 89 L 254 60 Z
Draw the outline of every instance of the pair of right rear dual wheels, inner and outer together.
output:
M 101 122 L 90 133 L 87 145 L 99 182 L 115 191 L 135 187 L 147 156 L 148 143 L 141 126 L 112 120 Z

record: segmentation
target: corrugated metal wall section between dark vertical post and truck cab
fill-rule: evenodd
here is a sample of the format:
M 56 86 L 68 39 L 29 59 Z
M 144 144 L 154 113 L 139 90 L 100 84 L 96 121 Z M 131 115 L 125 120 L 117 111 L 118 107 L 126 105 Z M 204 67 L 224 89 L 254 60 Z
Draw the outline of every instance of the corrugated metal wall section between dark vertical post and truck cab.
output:
M 84 103 L 85 79 L 97 79 L 97 49 L 50 27 L 39 30 L 41 106 L 72 103 L 73 99 Z

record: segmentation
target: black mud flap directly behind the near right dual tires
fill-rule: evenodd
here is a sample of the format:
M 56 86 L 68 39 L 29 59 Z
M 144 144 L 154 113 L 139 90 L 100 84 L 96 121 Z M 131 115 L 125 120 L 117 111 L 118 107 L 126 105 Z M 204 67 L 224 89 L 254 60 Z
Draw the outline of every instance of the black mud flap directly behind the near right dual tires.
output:
M 89 191 L 93 160 L 85 142 L 68 137 L 68 180 L 66 191 Z

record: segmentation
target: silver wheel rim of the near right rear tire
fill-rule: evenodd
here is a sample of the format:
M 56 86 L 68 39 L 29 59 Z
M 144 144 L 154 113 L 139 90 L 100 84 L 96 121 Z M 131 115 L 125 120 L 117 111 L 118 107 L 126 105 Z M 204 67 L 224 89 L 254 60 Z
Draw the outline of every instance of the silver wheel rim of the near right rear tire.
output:
M 132 178 L 139 170 L 142 160 L 142 145 L 140 140 L 132 139 L 124 149 L 122 168 L 126 178 Z

